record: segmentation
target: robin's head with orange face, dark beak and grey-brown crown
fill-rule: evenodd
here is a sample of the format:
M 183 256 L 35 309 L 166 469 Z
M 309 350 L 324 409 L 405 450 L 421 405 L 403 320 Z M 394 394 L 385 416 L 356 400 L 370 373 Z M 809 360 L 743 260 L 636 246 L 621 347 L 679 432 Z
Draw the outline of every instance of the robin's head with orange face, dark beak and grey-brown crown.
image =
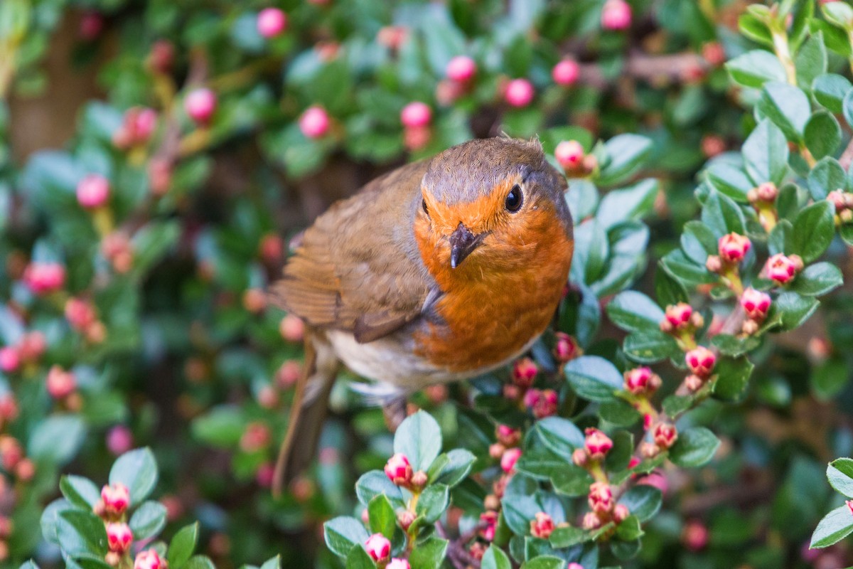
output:
M 538 141 L 487 138 L 432 159 L 421 182 L 415 240 L 439 282 L 517 270 L 531 262 L 571 262 L 566 179 Z M 567 257 L 567 258 L 566 258 Z

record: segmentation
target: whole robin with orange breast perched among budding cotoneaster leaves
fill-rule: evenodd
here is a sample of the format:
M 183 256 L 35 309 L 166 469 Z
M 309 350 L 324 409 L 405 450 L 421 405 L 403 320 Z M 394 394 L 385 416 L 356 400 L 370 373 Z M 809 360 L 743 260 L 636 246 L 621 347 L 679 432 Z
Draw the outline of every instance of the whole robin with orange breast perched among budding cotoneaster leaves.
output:
M 538 141 L 473 140 L 375 179 L 305 230 L 272 288 L 306 324 L 276 492 L 314 456 L 340 363 L 393 398 L 530 348 L 572 264 L 565 191 Z

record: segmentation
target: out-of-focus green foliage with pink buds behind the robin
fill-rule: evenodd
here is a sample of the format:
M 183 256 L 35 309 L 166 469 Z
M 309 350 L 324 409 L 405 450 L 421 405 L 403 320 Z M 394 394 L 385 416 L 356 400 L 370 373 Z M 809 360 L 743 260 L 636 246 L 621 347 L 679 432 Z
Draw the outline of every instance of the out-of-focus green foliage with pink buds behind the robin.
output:
M 697 212 L 705 160 L 739 148 L 755 125 L 744 112 L 755 91 L 722 68 L 755 47 L 738 33 L 741 0 L 632 0 L 623 30 L 602 28 L 600 0 L 275 5 L 287 23 L 267 38 L 265 2 L 0 3 L 0 344 L 19 357 L 0 361 L 7 566 L 59 562 L 36 529 L 57 473 L 101 480 L 141 445 L 160 462 L 170 523 L 200 520 L 200 549 L 217 566 L 275 554 L 285 567 L 339 566 L 322 521 L 357 511 L 355 479 L 385 463 L 392 436 L 380 409 L 340 382 L 320 467 L 270 496 L 301 328 L 262 291 L 289 238 L 380 172 L 472 136 L 538 134 L 553 152 L 560 140 L 589 151 L 631 132 L 653 142 L 641 171 L 657 180 L 642 192 L 648 247 L 634 253 L 653 266 Z M 447 77 L 457 55 L 474 61 L 472 78 Z M 576 73 L 558 84 L 564 60 Z M 830 54 L 831 71 L 845 66 Z M 519 78 L 531 100 L 511 95 Z M 202 117 L 187 101 L 200 88 L 215 102 Z M 410 102 L 427 103 L 424 124 L 401 122 Z M 313 123 L 309 107 L 323 111 Z M 139 119 L 143 109 L 154 114 Z M 108 181 L 108 210 L 78 204 L 90 174 Z M 595 187 L 572 191 L 576 212 L 595 212 L 582 204 L 598 199 Z M 54 264 L 64 281 L 33 293 L 32 267 Z M 645 266 L 630 277 L 651 291 Z M 72 298 L 91 311 L 69 309 Z M 740 404 L 702 409 L 722 450 L 699 471 L 659 474 L 664 511 L 630 566 L 850 564 L 844 544 L 804 543 L 838 502 L 823 465 L 853 446 L 851 301 L 836 293 L 765 346 Z M 602 337 L 618 334 L 602 322 Z M 70 391 L 49 386 L 54 366 L 73 372 Z M 471 438 L 491 433 L 455 403 L 469 389 L 427 389 L 412 404 L 438 419 L 449 446 L 479 450 L 483 467 L 491 439 Z

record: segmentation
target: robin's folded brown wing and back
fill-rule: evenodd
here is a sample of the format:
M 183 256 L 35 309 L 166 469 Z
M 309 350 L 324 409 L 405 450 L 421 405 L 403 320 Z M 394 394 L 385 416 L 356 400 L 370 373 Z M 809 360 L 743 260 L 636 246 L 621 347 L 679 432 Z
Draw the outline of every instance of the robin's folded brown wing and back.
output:
M 414 207 L 426 162 L 368 183 L 329 208 L 272 288 L 278 305 L 318 328 L 376 340 L 421 314 L 430 280 L 415 247 Z

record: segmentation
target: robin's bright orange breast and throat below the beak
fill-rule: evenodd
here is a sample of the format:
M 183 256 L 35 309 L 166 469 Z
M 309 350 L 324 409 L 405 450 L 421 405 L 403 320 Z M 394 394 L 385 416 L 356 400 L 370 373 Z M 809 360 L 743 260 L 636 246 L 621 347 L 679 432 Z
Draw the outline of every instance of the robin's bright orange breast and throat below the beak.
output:
M 429 322 L 415 335 L 415 353 L 453 372 L 505 362 L 554 316 L 572 263 L 573 242 L 552 207 L 527 212 L 524 223 L 485 245 L 456 269 L 449 247 L 415 224 L 421 258 L 444 292 Z

